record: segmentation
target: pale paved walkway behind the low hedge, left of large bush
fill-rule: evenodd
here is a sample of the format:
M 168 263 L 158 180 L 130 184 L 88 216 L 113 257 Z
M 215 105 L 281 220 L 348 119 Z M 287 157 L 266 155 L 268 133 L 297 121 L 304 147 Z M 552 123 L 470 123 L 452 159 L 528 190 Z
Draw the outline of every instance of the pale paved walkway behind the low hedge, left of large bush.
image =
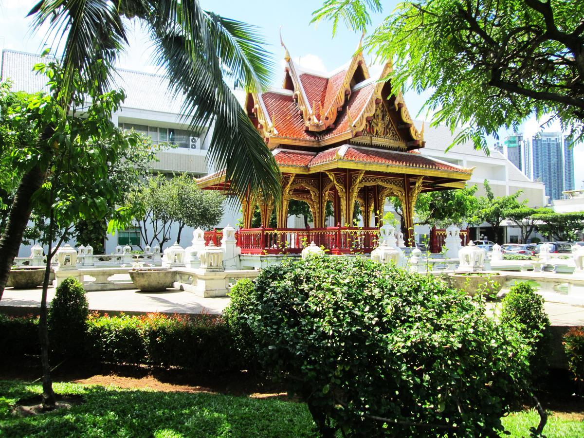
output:
M 48 290 L 47 301 L 53 300 L 55 289 Z M 126 312 L 143 314 L 145 312 L 182 313 L 182 314 L 221 314 L 229 304 L 228 297 L 201 298 L 190 292 L 168 289 L 165 292 L 142 293 L 138 290 L 110 290 L 86 292 L 89 309 L 100 312 Z M 40 307 L 41 288 L 15 290 L 6 288 L 0 300 L 0 310 L 11 314 L 36 313 Z M 11 307 L 11 309 L 2 309 Z

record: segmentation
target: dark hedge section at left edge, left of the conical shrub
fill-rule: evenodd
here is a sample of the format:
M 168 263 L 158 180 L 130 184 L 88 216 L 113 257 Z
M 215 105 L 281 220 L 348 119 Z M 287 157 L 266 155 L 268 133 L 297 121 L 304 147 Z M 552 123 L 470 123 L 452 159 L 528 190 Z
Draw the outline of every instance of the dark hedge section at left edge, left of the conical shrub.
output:
M 39 354 L 39 318 L 0 314 L 0 351 L 4 352 L 0 354 L 0 360 Z

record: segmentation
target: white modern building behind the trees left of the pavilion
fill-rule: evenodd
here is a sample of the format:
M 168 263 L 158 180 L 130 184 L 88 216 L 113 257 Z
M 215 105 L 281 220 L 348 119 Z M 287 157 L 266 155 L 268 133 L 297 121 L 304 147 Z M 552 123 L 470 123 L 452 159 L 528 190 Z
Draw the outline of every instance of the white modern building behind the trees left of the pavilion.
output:
M 43 58 L 39 55 L 3 50 L 1 57 L 0 80 L 11 81 L 14 91 L 36 93 L 47 90 L 46 78 L 42 75 L 36 75 L 32 71 L 34 64 L 43 62 Z M 113 123 L 150 135 L 155 143 L 170 142 L 177 146 L 173 149 L 157 152 L 158 161 L 152 162 L 153 172 L 186 172 L 200 177 L 213 171 L 207 162 L 211 131 L 208 127 L 203 127 L 201 133 L 198 134 L 189 130 L 188 120 L 181 113 L 182 100 L 172 98 L 168 91 L 168 81 L 164 77 L 117 69 L 114 81 L 115 88 L 123 88 L 126 92 L 126 100 L 121 108 L 113 114 Z M 227 204 L 224 218 L 219 226 L 235 225 L 238 216 L 239 208 Z M 192 229 L 185 228 L 182 232 L 182 240 L 190 242 L 192 231 Z M 178 230 L 172 230 L 171 239 L 174 239 L 177 233 Z M 112 253 L 117 245 L 126 244 L 128 240 L 130 243 L 135 242 L 137 238 L 140 238 L 139 230 L 127 230 L 113 236 L 109 235 L 106 238 L 106 253 Z M 173 242 L 171 240 L 166 245 L 172 245 Z M 79 243 L 84 244 L 85 242 Z M 29 255 L 30 248 L 22 245 L 19 256 Z

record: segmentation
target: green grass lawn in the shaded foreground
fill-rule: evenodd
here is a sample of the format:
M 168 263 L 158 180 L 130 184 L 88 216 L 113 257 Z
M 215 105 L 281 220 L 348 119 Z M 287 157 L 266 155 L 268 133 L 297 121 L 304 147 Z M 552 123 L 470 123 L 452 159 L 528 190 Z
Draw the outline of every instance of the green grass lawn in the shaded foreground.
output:
M 315 436 L 305 404 L 223 394 L 119 390 L 55 383 L 60 394 L 81 394 L 70 409 L 21 417 L 11 412 L 20 398 L 41 392 L 40 384 L 0 381 L 0 436 Z M 536 412 L 508 416 L 512 436 L 529 436 Z M 545 436 L 582 437 L 584 423 L 550 415 Z

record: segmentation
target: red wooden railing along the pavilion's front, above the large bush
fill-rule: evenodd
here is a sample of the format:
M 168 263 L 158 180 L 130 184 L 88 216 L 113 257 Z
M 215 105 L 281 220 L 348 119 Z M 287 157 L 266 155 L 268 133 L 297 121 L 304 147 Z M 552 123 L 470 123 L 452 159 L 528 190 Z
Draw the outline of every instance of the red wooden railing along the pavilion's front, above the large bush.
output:
M 312 242 L 331 254 L 370 253 L 378 228 L 245 228 L 237 232 L 242 254 L 298 254 Z

